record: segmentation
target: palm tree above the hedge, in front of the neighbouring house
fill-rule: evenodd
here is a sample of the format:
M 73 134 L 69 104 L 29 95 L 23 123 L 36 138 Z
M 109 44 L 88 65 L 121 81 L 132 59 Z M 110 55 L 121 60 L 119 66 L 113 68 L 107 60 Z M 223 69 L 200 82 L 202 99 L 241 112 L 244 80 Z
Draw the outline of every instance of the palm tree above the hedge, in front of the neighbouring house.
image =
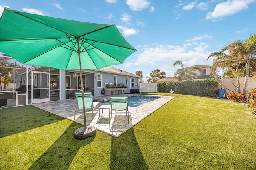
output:
M 182 69 L 178 69 L 173 74 L 174 78 L 178 79 L 179 81 L 181 81 L 181 80 L 192 80 L 193 77 L 197 78 L 198 75 L 196 74 L 196 72 L 201 71 L 201 69 L 197 66 L 192 66 L 192 67 L 186 68 L 186 63 L 184 64 L 183 61 L 180 61 L 180 60 L 176 60 L 173 63 L 173 67 L 175 67 L 176 65 L 180 65 L 180 67 L 182 67 Z

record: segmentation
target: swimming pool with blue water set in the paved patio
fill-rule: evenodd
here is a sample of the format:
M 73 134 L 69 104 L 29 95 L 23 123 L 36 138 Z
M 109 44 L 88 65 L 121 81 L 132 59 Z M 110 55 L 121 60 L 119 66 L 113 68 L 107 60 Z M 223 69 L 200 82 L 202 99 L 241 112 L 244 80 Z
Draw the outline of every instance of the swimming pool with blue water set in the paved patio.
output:
M 143 105 L 145 103 L 148 103 L 150 101 L 156 100 L 160 97 L 153 97 L 153 96 L 129 96 L 129 102 L 128 102 L 128 106 L 130 107 L 137 107 L 139 105 Z M 99 101 L 99 102 L 103 102 L 103 103 L 110 103 L 109 101 Z

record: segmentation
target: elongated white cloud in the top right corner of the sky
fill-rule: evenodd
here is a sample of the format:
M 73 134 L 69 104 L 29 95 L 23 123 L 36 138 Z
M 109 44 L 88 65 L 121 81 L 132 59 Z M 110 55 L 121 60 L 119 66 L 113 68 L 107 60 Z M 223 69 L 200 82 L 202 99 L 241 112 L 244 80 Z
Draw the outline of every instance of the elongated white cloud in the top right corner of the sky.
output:
M 255 2 L 252 0 L 244 0 L 244 1 L 233 1 L 228 0 L 227 2 L 222 2 L 217 4 L 214 8 L 213 12 L 208 12 L 206 15 L 206 20 L 213 20 L 217 18 L 222 18 L 224 16 L 231 16 L 248 8 L 248 4 Z

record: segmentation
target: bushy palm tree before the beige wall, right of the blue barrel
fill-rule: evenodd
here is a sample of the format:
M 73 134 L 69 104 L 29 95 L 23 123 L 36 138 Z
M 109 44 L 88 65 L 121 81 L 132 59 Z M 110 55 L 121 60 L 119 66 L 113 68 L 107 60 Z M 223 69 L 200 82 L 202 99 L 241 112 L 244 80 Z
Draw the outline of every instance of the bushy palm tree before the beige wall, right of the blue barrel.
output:
M 241 46 L 243 45 L 242 41 L 235 41 L 228 45 L 225 45 L 220 51 L 211 53 L 207 60 L 210 57 L 216 57 L 216 62 L 214 63 L 212 70 L 221 68 L 222 70 L 232 67 L 236 72 L 236 83 L 235 90 L 238 89 L 238 93 L 242 92 L 242 86 L 240 83 L 240 76 L 242 75 L 241 65 L 244 63 L 244 57 L 242 57 Z M 228 54 L 226 53 L 228 51 Z M 232 90 L 231 90 L 232 91 Z

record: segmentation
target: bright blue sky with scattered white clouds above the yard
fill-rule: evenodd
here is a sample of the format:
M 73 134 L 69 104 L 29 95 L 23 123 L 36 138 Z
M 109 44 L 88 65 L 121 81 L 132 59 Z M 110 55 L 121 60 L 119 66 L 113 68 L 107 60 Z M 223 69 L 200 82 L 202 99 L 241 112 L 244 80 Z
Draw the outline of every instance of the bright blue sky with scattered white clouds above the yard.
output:
M 138 51 L 113 67 L 145 77 L 154 69 L 173 77 L 176 60 L 212 65 L 208 55 L 256 33 L 256 0 L 1 0 L 4 7 L 44 16 L 116 24 Z

